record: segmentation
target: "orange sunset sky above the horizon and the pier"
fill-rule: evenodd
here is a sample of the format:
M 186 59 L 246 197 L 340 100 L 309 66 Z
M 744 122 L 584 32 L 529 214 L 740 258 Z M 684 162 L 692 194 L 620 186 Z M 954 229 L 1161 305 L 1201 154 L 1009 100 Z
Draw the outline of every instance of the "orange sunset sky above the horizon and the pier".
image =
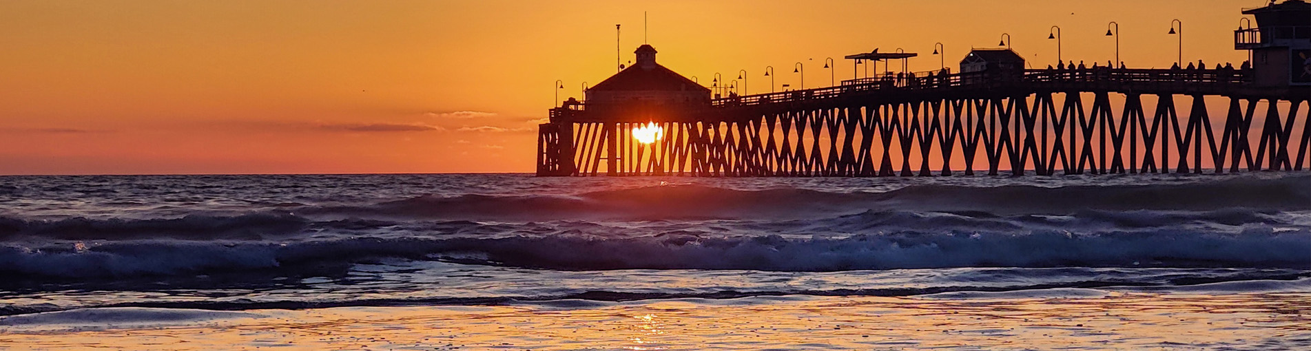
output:
M 956 67 L 1002 34 L 1033 67 L 1239 65 L 1264 0 L 0 1 L 0 174 L 532 172 L 536 124 L 644 41 L 747 93 L 851 79 L 902 48 Z M 644 30 L 644 12 L 646 29 Z M 645 34 L 645 35 L 644 35 Z M 645 37 L 645 39 L 644 39 Z M 931 55 L 943 43 L 945 56 Z M 822 68 L 826 58 L 834 69 Z M 899 69 L 898 63 L 891 69 Z M 555 81 L 564 89 L 555 89 Z

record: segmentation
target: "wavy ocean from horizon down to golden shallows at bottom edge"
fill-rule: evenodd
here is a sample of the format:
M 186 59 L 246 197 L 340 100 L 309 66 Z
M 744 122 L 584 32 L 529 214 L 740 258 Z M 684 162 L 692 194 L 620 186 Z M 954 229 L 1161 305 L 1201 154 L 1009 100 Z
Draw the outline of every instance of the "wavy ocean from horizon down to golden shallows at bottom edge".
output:
M 13 350 L 1307 350 L 1311 174 L 0 177 L 0 316 Z

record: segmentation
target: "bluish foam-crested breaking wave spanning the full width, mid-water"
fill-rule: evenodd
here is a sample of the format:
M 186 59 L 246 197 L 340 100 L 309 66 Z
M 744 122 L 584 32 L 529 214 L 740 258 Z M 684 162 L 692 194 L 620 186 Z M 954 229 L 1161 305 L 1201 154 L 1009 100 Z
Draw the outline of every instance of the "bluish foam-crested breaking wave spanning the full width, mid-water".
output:
M 106 279 L 349 267 L 376 258 L 551 270 L 846 271 L 941 267 L 1311 267 L 1311 232 L 894 232 L 844 237 L 656 236 L 350 237 L 270 241 L 134 240 L 71 250 L 0 246 L 0 275 Z

